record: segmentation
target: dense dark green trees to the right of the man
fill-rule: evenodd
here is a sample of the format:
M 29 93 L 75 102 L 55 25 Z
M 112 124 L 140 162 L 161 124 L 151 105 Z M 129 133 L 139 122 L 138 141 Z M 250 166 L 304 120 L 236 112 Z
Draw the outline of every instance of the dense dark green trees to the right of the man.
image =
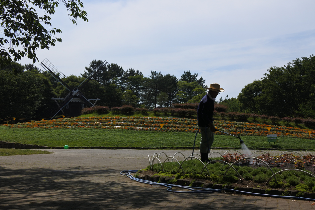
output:
M 315 56 L 270 67 L 238 95 L 240 110 L 279 117 L 315 117 Z

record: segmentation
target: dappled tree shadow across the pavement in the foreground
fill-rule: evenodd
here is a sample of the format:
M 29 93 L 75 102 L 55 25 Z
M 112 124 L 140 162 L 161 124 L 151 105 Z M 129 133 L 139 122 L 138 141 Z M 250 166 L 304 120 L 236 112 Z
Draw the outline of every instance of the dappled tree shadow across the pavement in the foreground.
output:
M 2 166 L 0 189 L 0 209 L 274 208 L 262 205 L 266 198 L 254 196 L 170 193 L 165 187 L 139 184 L 117 170 L 100 168 L 53 170 Z

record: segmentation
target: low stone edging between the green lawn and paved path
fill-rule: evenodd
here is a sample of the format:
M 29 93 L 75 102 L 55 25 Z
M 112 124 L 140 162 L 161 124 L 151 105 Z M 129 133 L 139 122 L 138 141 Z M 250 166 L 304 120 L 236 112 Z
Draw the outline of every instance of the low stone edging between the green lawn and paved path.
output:
M 3 149 L 65 149 L 61 147 L 49 147 L 49 146 L 40 146 L 40 145 L 27 145 L 20 143 L 10 143 L 5 141 L 0 141 L 0 148 Z M 103 150 L 122 150 L 122 149 L 134 149 L 134 150 L 174 150 L 174 149 L 190 149 L 193 147 L 103 147 L 103 146 L 91 146 L 91 147 L 69 147 L 69 149 L 103 149 Z M 195 147 L 196 150 L 199 150 L 199 147 Z M 238 147 L 212 147 L 211 149 L 216 150 L 239 150 Z M 279 150 L 278 148 L 255 148 L 255 150 Z M 281 150 L 295 150 L 295 151 L 313 151 L 312 149 L 281 149 Z

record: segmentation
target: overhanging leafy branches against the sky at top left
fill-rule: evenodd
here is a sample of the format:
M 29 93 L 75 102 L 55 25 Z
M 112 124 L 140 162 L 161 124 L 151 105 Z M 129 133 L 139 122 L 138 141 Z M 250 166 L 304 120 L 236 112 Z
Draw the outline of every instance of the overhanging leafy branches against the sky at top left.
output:
M 60 29 L 53 28 L 51 17 L 62 2 L 73 24 L 77 24 L 77 18 L 84 21 L 87 13 L 83 10 L 81 0 L 1 0 L 0 22 L 3 34 L 0 37 L 0 57 L 3 62 L 18 61 L 27 56 L 38 61 L 35 51 L 39 48 L 49 49 L 56 42 L 62 42 L 55 37 L 61 33 Z M 44 12 L 39 16 L 36 9 Z

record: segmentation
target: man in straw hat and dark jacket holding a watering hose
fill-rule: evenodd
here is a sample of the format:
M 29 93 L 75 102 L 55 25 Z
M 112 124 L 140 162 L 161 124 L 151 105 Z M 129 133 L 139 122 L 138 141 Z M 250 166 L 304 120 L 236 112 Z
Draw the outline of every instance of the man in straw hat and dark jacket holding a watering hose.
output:
M 213 111 L 215 109 L 215 97 L 224 89 L 219 84 L 210 84 L 209 91 L 201 101 L 197 108 L 198 126 L 201 131 L 200 156 L 202 162 L 209 162 L 208 154 L 214 140 L 215 126 L 213 125 Z

